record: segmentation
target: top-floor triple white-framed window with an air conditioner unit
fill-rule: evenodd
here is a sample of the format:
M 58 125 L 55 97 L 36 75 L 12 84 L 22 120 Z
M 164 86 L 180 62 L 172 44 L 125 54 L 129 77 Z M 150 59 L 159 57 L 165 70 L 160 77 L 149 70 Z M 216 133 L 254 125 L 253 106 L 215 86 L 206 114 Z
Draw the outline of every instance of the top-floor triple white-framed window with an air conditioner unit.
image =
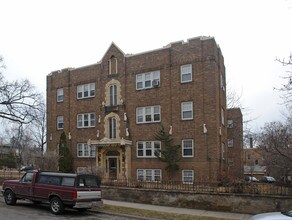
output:
M 160 71 L 140 73 L 136 75 L 136 90 L 150 89 L 160 85 Z

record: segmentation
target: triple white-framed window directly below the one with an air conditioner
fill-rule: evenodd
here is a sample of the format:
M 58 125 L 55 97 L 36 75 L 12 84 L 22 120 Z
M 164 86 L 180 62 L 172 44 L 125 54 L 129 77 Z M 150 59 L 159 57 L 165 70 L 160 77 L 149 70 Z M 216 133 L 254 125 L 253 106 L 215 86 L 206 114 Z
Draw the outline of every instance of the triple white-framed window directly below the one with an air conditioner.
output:
M 136 109 L 136 123 L 160 122 L 160 105 L 138 107 Z

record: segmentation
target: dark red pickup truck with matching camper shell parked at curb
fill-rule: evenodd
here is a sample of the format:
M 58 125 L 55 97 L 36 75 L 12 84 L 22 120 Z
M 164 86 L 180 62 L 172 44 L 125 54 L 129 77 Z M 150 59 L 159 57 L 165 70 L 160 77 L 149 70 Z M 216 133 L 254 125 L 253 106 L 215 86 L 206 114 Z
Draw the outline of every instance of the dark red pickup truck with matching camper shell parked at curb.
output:
M 61 214 L 65 207 L 85 211 L 102 205 L 100 182 L 95 175 L 30 170 L 20 180 L 4 181 L 2 193 L 7 205 L 18 199 L 49 202 L 52 213 Z

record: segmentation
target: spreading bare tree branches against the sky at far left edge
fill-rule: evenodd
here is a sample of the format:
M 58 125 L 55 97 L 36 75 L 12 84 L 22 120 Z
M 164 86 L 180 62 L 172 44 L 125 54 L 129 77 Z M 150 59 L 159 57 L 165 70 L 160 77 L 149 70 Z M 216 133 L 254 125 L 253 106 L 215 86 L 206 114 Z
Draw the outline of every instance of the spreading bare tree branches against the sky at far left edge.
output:
M 4 67 L 3 57 L 0 57 L 0 118 L 28 124 L 40 111 L 42 95 L 28 80 L 5 80 L 1 73 Z

